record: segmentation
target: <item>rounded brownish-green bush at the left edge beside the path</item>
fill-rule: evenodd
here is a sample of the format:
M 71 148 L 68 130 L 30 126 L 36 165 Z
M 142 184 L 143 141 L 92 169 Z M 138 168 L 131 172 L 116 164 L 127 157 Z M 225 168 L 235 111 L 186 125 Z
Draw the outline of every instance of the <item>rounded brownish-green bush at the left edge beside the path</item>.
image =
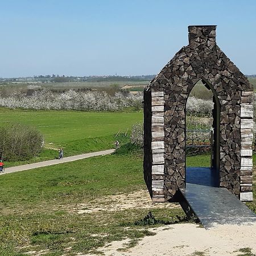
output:
M 43 136 L 33 127 L 7 123 L 0 127 L 0 157 L 3 160 L 24 160 L 42 150 Z

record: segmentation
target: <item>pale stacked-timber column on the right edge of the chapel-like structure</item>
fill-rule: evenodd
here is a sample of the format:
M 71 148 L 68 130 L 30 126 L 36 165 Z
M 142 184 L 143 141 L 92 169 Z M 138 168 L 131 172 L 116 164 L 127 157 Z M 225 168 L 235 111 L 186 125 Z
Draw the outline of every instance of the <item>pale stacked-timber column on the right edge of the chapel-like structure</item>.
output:
M 253 91 L 241 97 L 240 200 L 253 200 Z

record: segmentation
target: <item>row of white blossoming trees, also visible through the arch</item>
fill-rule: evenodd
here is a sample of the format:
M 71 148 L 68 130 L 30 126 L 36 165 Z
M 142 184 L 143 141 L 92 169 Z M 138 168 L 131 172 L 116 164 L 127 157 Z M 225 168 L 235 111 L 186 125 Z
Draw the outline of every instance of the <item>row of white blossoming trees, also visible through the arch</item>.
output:
M 68 90 L 53 92 L 49 89 L 35 90 L 27 96 L 24 92 L 12 93 L 10 96 L 0 97 L 0 106 L 10 109 L 53 109 L 53 110 L 84 110 L 84 111 L 122 111 L 127 107 L 142 108 L 143 94 L 117 92 L 110 96 L 104 91 Z M 190 97 L 187 103 L 187 113 L 191 115 L 210 115 L 212 102 Z

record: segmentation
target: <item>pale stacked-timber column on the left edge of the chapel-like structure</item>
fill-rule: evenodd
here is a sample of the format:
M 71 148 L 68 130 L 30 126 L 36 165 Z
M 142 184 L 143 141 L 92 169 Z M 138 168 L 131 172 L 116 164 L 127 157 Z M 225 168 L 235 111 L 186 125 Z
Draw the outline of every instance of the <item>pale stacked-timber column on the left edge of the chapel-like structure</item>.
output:
M 152 201 L 164 202 L 164 93 L 151 92 L 152 98 Z

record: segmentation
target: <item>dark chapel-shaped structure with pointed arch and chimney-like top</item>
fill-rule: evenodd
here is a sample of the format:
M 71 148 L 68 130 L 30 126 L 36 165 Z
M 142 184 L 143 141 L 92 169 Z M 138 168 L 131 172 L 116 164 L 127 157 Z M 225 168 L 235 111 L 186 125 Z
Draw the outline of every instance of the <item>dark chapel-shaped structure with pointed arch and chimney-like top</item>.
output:
M 215 96 L 214 167 L 220 171 L 220 187 L 252 200 L 253 87 L 217 46 L 216 26 L 189 26 L 188 31 L 188 46 L 144 90 L 148 190 L 153 201 L 170 201 L 178 188 L 185 187 L 185 106 L 193 86 L 201 80 Z M 164 142 L 164 150 L 156 141 Z

